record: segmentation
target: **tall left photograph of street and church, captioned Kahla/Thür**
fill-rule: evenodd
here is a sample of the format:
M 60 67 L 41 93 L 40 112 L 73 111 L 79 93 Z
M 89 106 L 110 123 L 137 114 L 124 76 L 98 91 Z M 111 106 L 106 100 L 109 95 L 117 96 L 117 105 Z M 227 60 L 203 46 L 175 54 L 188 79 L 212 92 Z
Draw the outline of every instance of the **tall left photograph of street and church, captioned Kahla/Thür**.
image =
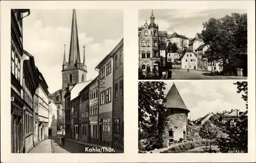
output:
M 10 13 L 11 153 L 123 153 L 122 10 Z

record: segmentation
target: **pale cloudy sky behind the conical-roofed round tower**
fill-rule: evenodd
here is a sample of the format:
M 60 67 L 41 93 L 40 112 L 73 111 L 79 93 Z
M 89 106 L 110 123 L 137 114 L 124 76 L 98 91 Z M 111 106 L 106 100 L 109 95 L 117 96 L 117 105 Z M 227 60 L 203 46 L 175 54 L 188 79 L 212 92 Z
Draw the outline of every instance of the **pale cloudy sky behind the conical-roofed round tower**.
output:
M 175 83 L 187 109 L 188 118 L 196 120 L 209 112 L 231 111 L 239 109 L 246 111 L 246 103 L 242 95 L 237 93 L 237 81 L 234 80 L 190 80 L 190 81 L 164 81 L 167 94 Z

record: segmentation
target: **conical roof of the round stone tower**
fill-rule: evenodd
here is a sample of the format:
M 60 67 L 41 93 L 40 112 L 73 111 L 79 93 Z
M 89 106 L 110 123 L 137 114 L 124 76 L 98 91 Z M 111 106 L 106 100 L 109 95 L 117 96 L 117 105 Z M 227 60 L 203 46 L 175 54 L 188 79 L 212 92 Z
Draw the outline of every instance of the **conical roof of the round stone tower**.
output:
M 170 88 L 165 98 L 166 103 L 164 103 L 164 105 L 167 108 L 185 109 L 189 112 L 175 84 L 173 84 L 173 86 Z

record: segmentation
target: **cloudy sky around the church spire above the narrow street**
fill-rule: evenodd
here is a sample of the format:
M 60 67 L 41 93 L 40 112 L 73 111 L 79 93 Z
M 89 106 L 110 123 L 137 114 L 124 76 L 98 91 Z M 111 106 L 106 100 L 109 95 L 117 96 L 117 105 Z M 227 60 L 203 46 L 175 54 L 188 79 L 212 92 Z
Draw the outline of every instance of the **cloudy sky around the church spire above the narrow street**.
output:
M 87 80 L 95 78 L 95 67 L 123 38 L 122 10 L 76 10 L 80 58 L 86 46 Z M 31 10 L 23 19 L 23 46 L 35 58 L 53 93 L 62 88 L 64 45 L 68 62 L 72 9 Z

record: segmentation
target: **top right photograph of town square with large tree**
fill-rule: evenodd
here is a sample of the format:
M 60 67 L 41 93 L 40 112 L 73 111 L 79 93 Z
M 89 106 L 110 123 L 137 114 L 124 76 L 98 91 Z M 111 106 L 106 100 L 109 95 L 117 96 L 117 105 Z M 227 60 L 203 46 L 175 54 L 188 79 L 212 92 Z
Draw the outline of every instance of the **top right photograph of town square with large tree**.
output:
M 139 79 L 247 79 L 244 9 L 139 10 Z

